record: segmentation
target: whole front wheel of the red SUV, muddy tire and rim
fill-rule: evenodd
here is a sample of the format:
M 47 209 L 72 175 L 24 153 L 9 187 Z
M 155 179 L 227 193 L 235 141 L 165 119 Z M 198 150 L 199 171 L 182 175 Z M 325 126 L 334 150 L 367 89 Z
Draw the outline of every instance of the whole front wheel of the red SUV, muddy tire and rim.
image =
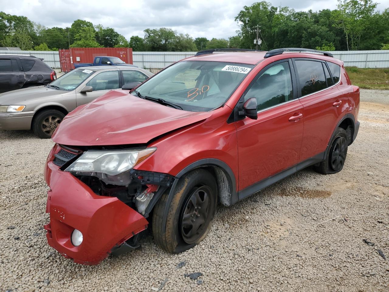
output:
M 168 196 L 169 190 L 154 208 L 152 233 L 157 245 L 165 252 L 180 253 L 207 236 L 216 211 L 216 181 L 204 169 L 195 169 L 180 178 L 168 206 L 168 214 L 163 218 Z

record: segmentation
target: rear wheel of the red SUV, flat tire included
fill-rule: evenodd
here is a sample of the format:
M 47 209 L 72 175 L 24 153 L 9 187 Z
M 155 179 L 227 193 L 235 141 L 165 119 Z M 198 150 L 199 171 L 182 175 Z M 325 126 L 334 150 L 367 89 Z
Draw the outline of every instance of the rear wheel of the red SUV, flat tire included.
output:
M 314 166 L 316 172 L 333 174 L 343 169 L 349 145 L 347 132 L 343 128 L 336 128 L 329 145 L 324 161 L 320 162 L 318 166 Z

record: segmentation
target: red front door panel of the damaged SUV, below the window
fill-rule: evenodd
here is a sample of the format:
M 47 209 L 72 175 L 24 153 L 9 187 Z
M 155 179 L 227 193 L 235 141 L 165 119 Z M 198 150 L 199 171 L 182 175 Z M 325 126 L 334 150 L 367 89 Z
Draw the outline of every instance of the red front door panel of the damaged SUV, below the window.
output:
M 258 120 L 235 122 L 238 130 L 239 190 L 299 162 L 304 119 L 289 121 L 302 113 L 300 101 L 258 114 Z

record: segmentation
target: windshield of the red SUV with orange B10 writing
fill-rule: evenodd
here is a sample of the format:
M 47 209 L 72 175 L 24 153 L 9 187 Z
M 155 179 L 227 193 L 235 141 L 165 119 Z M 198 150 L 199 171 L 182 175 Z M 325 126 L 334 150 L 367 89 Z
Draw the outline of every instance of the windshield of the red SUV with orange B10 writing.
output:
M 183 61 L 140 85 L 131 94 L 163 99 L 186 111 L 210 111 L 226 102 L 253 65 Z

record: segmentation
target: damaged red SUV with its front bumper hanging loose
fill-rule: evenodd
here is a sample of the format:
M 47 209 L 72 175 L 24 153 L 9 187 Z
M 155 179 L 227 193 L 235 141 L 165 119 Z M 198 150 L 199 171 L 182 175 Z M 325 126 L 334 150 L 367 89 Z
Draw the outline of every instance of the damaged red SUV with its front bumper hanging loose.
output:
M 53 135 L 47 240 L 78 263 L 137 248 L 149 223 L 163 250 L 187 250 L 218 201 L 310 165 L 342 170 L 359 128 L 359 88 L 322 51 L 205 50 L 126 89 L 77 107 Z

